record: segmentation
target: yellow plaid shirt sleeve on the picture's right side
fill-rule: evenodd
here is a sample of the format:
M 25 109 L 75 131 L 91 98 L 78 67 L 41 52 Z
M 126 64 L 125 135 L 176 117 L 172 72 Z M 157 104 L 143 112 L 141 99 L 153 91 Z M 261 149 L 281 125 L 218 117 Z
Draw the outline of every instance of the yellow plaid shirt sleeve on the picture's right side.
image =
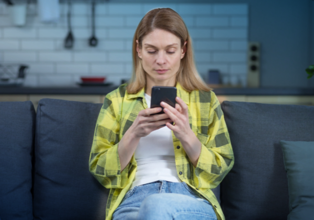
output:
M 197 133 L 201 154 L 193 168 L 196 188 L 212 189 L 219 185 L 234 164 L 230 136 L 223 111 L 214 92 L 211 93 L 208 133 Z

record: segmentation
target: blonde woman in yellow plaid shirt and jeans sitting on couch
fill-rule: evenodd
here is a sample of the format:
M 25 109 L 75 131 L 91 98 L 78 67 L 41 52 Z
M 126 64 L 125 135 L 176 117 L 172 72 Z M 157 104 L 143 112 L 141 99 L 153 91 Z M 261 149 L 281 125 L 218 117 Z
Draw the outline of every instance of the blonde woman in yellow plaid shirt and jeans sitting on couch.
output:
M 165 113 L 151 115 L 161 111 L 148 108 L 153 86 L 175 86 L 175 108 L 162 102 Z M 132 78 L 106 95 L 96 124 L 89 168 L 110 189 L 106 220 L 224 219 L 211 189 L 232 166 L 185 23 L 170 8 L 149 11 L 134 35 Z

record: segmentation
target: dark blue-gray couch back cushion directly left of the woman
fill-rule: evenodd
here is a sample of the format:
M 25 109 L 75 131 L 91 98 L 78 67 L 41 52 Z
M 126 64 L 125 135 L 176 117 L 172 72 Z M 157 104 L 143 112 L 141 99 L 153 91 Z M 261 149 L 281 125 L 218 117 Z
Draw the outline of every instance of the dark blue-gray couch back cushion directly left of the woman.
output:
M 89 173 L 102 104 L 42 99 L 36 117 L 35 220 L 104 220 L 108 190 Z

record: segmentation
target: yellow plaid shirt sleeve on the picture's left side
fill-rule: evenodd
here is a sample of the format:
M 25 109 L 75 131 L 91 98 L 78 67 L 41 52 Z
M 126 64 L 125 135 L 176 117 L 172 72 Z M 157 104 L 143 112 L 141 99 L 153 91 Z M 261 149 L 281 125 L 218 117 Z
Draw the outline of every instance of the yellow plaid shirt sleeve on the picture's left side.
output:
M 89 171 L 107 189 L 124 188 L 130 163 L 121 172 L 118 154 L 120 122 L 109 94 L 97 118 L 89 156 Z M 131 158 L 132 161 L 133 158 Z

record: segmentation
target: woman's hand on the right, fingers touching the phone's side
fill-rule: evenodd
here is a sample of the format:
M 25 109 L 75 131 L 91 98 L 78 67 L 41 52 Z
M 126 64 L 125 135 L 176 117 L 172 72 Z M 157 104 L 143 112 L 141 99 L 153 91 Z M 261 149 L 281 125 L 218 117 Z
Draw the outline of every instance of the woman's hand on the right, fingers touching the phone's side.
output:
M 176 97 L 176 101 L 178 104 L 175 104 L 175 108 L 165 102 L 161 102 L 161 106 L 164 107 L 164 112 L 175 123 L 171 125 L 167 122 L 166 126 L 173 131 L 180 141 L 184 141 L 193 133 L 188 122 L 188 106 L 180 97 Z

